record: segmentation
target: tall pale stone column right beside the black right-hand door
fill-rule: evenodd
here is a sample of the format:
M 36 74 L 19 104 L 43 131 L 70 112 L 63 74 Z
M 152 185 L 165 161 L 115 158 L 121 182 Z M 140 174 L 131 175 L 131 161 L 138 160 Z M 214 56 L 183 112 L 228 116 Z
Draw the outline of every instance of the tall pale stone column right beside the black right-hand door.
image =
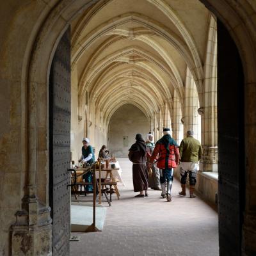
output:
M 209 24 L 204 77 L 204 108 L 198 109 L 198 113 L 202 116 L 204 150 L 200 170 L 218 172 L 217 25 L 214 17 L 211 17 Z

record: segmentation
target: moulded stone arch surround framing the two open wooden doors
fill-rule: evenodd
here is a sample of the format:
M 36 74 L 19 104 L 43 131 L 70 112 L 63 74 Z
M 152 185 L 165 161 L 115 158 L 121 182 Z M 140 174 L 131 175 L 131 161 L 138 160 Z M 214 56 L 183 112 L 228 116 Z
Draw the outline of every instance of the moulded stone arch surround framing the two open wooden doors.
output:
M 28 119 L 28 151 L 31 158 L 28 163 L 28 183 L 27 183 L 27 195 L 29 200 L 28 211 L 29 220 L 34 225 L 37 225 L 37 216 L 35 212 L 38 212 L 38 202 L 36 200 L 36 194 L 39 194 L 39 199 L 44 202 L 45 207 L 49 205 L 47 198 L 47 186 L 41 188 L 40 193 L 38 193 L 36 188 L 36 173 L 46 173 L 48 166 L 48 150 L 40 149 L 37 147 L 38 141 L 43 141 L 47 145 L 47 135 L 49 131 L 47 129 L 47 108 L 41 108 L 42 104 L 47 106 L 47 85 L 49 77 L 49 68 L 51 67 L 51 61 L 53 54 L 55 52 L 56 46 L 63 35 L 65 29 L 77 13 L 81 10 L 85 10 L 93 3 L 97 1 L 60 1 L 56 6 L 48 6 L 47 14 L 45 15 L 44 21 L 40 21 L 40 29 L 38 33 L 33 38 L 33 45 L 28 52 L 31 53 L 31 58 L 28 58 L 27 63 L 24 67 L 26 69 L 26 75 L 28 77 L 28 107 L 27 115 Z M 250 6 L 248 1 L 243 1 L 244 4 L 234 3 L 234 1 L 203 1 L 202 3 L 209 8 L 227 27 L 233 40 L 236 42 L 237 48 L 239 50 L 245 76 L 245 104 L 244 104 L 244 115 L 245 115 L 245 157 L 246 166 L 244 170 L 246 171 L 246 177 L 248 178 L 250 173 L 255 172 L 255 161 L 251 152 L 255 150 L 255 143 L 249 141 L 247 136 L 250 138 L 255 138 L 255 129 L 253 125 L 253 118 L 256 116 L 253 104 L 255 102 L 255 85 L 256 85 L 256 74 L 254 72 L 256 68 L 256 56 L 255 56 L 255 24 L 253 23 L 250 13 L 253 13 L 253 8 Z M 246 24 L 246 25 L 245 25 Z M 38 26 L 39 27 L 39 26 Z M 27 118 L 25 115 L 24 118 Z M 255 123 L 255 122 L 254 122 Z M 247 135 L 248 134 L 248 135 Z M 38 162 L 38 157 L 40 158 L 40 165 L 36 164 Z M 47 176 L 45 174 L 45 176 Z M 255 177 L 255 175 L 254 175 Z M 248 179 L 248 184 L 246 186 L 246 193 L 248 195 L 253 191 L 253 184 L 256 183 L 254 178 Z M 255 216 L 255 198 L 250 196 L 246 197 L 246 207 L 245 207 L 245 218 L 244 218 L 244 247 L 250 248 L 253 244 L 252 237 L 255 237 L 255 233 L 250 231 L 249 224 Z M 249 238 L 251 237 L 251 238 Z M 39 237 L 38 237 L 39 238 Z M 36 239 L 36 238 L 35 238 Z M 49 237 L 51 239 L 51 237 Z M 252 240 L 250 240 L 252 239 Z

